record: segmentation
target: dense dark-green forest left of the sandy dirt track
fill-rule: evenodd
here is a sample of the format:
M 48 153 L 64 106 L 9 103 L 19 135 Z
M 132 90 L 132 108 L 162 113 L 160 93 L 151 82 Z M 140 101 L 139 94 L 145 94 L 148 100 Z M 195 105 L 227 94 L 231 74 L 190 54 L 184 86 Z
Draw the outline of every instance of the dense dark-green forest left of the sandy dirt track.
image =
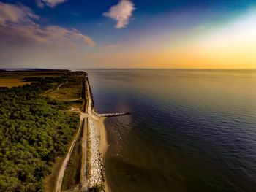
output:
M 53 82 L 64 80 L 42 77 L 23 87 L 0 88 L 0 191 L 43 191 L 50 165 L 66 153 L 78 114 L 64 111 L 69 102 L 42 96 Z

